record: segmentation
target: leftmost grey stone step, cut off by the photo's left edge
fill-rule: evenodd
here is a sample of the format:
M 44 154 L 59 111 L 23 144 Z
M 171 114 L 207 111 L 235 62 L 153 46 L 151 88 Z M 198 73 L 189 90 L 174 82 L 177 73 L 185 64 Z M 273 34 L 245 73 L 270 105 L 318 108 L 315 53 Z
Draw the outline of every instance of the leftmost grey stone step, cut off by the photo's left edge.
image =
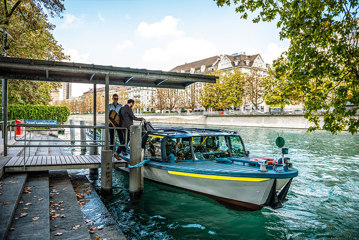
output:
M 0 239 L 8 235 L 26 179 L 27 174 L 14 174 L 0 180 Z

